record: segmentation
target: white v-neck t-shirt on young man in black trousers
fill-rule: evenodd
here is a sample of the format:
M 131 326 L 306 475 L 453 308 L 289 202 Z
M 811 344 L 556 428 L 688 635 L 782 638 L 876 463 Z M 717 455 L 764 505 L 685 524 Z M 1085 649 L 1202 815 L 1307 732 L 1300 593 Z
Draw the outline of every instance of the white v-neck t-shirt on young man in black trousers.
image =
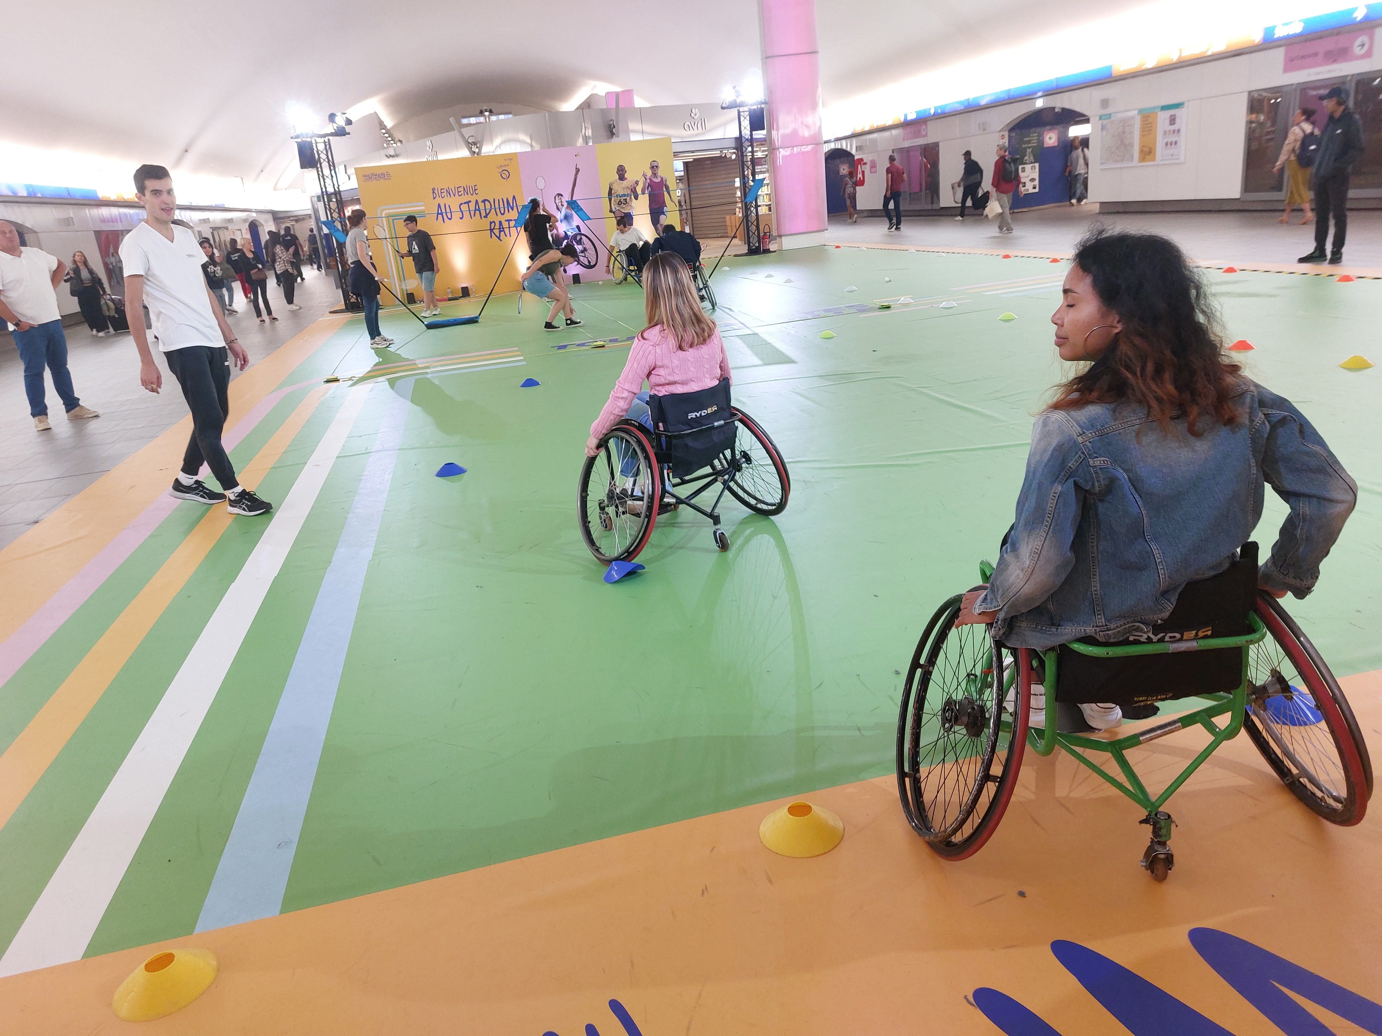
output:
M 120 261 L 124 276 L 144 278 L 144 304 L 153 318 L 159 349 L 225 345 L 202 275 L 206 254 L 192 231 L 173 224 L 173 240 L 169 240 L 141 222 L 120 242 Z

